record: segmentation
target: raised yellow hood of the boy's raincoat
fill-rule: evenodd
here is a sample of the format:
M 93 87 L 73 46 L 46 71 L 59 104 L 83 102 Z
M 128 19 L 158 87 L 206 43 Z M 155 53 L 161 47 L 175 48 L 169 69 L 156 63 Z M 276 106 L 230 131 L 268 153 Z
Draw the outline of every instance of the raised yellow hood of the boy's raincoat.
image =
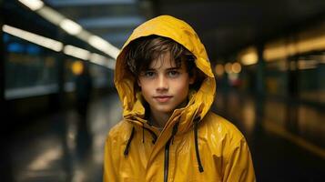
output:
M 181 121 L 178 124 L 178 131 L 186 131 L 192 125 L 193 118 L 203 118 L 213 103 L 216 90 L 216 81 L 208 60 L 204 45 L 198 39 L 197 33 L 186 22 L 169 15 L 160 15 L 146 23 L 139 25 L 129 36 L 120 54 L 117 56 L 115 71 L 115 85 L 123 106 L 123 116 L 139 125 L 147 122 L 144 119 L 145 107 L 140 93 L 135 93 L 137 80 L 127 72 L 126 54 L 127 46 L 137 38 L 148 35 L 160 35 L 169 37 L 180 45 L 186 47 L 195 57 L 195 64 L 204 73 L 204 80 L 198 90 L 190 92 L 188 105 L 176 109 L 168 120 L 166 126 L 173 126 L 175 120 Z M 173 119 L 174 118 L 174 119 Z M 175 119 L 178 118 L 178 119 Z M 165 127 L 166 127 L 165 126 Z

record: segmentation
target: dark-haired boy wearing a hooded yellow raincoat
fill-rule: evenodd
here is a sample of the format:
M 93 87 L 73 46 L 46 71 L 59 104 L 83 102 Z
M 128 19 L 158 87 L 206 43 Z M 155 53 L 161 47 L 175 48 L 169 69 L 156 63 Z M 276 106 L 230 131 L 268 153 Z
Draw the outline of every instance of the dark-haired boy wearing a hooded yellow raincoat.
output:
M 244 136 L 209 111 L 215 78 L 187 23 L 161 15 L 139 25 L 115 84 L 123 120 L 107 136 L 104 181 L 255 181 Z

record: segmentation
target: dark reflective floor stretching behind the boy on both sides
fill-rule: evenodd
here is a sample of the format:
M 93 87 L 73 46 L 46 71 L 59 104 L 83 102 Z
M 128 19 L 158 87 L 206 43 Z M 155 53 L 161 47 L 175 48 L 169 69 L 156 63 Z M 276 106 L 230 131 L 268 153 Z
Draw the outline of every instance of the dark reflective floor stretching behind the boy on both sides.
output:
M 323 181 L 323 110 L 231 92 L 218 92 L 212 110 L 246 136 L 257 181 Z M 86 119 L 71 108 L 33 120 L 2 144 L 2 179 L 102 181 L 107 131 L 121 115 L 117 93 L 112 92 L 91 102 Z

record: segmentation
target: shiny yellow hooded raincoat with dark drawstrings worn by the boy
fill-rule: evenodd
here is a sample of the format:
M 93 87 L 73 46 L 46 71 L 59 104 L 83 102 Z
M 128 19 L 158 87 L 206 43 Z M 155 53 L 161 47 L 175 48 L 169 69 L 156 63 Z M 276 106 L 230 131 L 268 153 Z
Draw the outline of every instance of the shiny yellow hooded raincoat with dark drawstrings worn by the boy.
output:
M 160 35 L 184 45 L 205 74 L 200 88 L 188 96 L 160 132 L 145 119 L 135 78 L 126 70 L 127 45 L 141 36 Z M 185 22 L 161 15 L 139 25 L 117 56 L 115 84 L 123 104 L 123 120 L 108 133 L 104 181 L 255 181 L 248 144 L 229 121 L 209 111 L 216 82 L 204 45 Z

